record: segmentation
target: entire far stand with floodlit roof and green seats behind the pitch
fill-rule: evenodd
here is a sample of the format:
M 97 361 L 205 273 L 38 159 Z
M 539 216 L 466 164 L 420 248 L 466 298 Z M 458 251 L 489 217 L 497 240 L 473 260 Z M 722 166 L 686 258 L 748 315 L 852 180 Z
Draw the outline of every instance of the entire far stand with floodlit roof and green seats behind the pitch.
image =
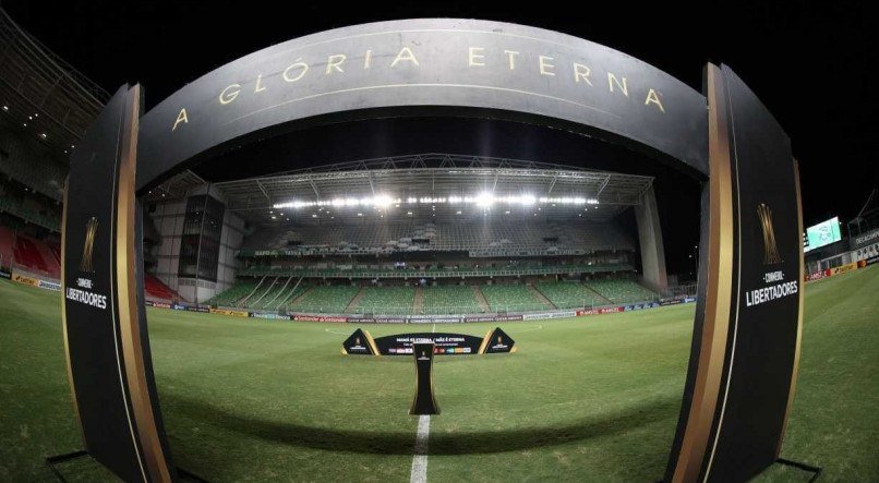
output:
M 147 269 L 179 297 L 155 302 L 447 315 L 669 293 L 650 177 L 423 154 L 219 183 L 188 171 L 146 213 Z

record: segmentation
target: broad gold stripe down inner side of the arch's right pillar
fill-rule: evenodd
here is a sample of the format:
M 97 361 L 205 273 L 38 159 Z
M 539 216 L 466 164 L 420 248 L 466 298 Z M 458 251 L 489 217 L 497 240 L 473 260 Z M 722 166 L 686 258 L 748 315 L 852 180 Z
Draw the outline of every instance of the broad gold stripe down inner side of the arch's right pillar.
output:
M 709 237 L 708 280 L 699 363 L 674 482 L 697 481 L 711 434 L 726 354 L 733 275 L 733 186 L 727 106 L 720 69 L 709 63 Z

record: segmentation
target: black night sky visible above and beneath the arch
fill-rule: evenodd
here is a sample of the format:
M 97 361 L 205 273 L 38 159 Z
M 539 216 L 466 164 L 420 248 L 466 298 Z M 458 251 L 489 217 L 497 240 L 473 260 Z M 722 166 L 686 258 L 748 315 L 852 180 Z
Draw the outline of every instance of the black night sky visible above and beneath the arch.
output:
M 757 93 L 792 138 L 800 162 L 805 224 L 857 215 L 879 186 L 879 87 L 868 75 L 879 56 L 876 16 L 869 2 L 258 2 L 124 1 L 47 2 L 13 0 L 2 7 L 14 21 L 77 70 L 113 92 L 142 83 L 147 109 L 208 71 L 241 56 L 305 34 L 382 20 L 455 16 L 550 28 L 606 45 L 669 72 L 701 90 L 707 61 L 726 63 Z M 516 2 L 519 3 L 519 2 Z M 549 129 L 504 122 L 457 120 L 383 121 L 324 129 L 324 137 L 349 136 L 317 154 L 308 140 L 291 137 L 265 149 L 299 149 L 298 162 L 344 161 L 371 155 L 471 150 L 472 154 L 561 161 L 657 176 L 660 204 L 697 209 L 698 184 L 605 143 Z M 446 132 L 444 136 L 436 133 Z M 405 135 L 400 135 L 405 133 Z M 359 136 L 361 142 L 350 136 Z M 302 136 L 299 136 L 302 137 Z M 314 138 L 315 136 L 309 136 Z M 320 137 L 320 136 L 318 136 Z M 312 143 L 314 144 L 314 143 Z M 324 144 L 326 145 L 326 144 Z M 366 146 L 346 152 L 340 146 Z M 311 150 L 309 150 L 311 149 Z M 215 172 L 231 166 L 227 157 Z M 297 166 L 261 164 L 263 173 Z M 628 171 L 626 171 L 628 170 Z M 686 259 L 697 238 L 691 219 L 663 213 L 670 264 Z M 689 209 L 687 213 L 694 213 Z M 675 241 L 678 239 L 675 238 Z M 685 243 L 684 243 L 685 242 Z M 678 253 L 679 252 L 679 253 Z M 681 262 L 678 262 L 681 261 Z M 674 269 L 675 267 L 671 267 Z M 679 266 L 679 270 L 684 270 Z

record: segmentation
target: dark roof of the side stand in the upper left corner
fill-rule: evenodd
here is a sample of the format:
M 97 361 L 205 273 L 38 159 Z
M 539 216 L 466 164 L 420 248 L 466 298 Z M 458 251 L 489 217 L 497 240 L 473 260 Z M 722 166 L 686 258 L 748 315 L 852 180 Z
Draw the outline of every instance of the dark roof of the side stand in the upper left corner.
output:
M 0 116 L 68 154 L 109 98 L 0 9 Z

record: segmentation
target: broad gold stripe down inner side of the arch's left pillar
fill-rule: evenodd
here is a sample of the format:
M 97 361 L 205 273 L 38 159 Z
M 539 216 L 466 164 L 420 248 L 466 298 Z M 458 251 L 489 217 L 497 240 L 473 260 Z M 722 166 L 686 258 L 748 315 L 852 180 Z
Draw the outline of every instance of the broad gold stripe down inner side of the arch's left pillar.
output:
M 171 475 L 159 438 L 153 402 L 149 397 L 143 341 L 137 317 L 137 270 L 135 266 L 135 195 L 134 174 L 137 164 L 137 125 L 141 105 L 141 86 L 132 87 L 127 97 L 123 120 L 122 152 L 119 160 L 116 222 L 117 295 L 119 327 L 124 357 L 128 391 L 134 412 L 137 438 L 150 481 L 170 482 Z

